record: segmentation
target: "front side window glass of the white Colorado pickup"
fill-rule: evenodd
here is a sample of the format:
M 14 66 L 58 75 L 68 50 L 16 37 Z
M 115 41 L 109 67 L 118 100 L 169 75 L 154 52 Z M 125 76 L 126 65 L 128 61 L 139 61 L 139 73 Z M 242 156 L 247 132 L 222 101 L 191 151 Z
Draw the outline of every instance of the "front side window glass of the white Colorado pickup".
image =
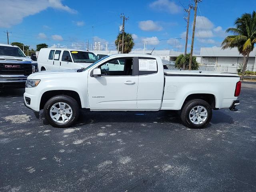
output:
M 100 66 L 102 76 L 131 76 L 132 58 L 114 59 Z

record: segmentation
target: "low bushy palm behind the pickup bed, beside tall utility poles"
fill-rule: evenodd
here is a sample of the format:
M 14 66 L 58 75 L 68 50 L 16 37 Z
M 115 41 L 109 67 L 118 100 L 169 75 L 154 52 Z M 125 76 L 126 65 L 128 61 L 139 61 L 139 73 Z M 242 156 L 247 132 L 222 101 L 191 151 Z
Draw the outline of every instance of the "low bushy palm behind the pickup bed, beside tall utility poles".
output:
M 181 54 L 177 57 L 176 61 L 175 61 L 175 67 L 182 69 L 183 68 L 183 64 L 186 64 L 186 68 L 188 68 L 188 64 L 189 64 L 189 58 L 190 58 L 190 53 L 186 54 L 184 56 L 184 54 Z M 193 56 L 192 57 L 192 65 L 191 65 L 191 69 L 192 70 L 198 70 L 198 62 L 196 61 L 196 57 Z

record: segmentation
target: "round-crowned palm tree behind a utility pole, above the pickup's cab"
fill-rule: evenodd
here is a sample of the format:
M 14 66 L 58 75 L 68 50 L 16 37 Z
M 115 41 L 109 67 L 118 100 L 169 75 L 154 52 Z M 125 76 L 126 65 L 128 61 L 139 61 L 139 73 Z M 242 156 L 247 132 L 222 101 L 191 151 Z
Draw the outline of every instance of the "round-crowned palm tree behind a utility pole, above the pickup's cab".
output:
M 119 42 L 119 51 L 122 52 L 122 33 L 119 33 L 115 44 L 116 49 L 118 49 L 118 42 Z M 131 52 L 132 48 L 134 47 L 134 40 L 132 38 L 132 34 L 124 32 L 124 53 Z

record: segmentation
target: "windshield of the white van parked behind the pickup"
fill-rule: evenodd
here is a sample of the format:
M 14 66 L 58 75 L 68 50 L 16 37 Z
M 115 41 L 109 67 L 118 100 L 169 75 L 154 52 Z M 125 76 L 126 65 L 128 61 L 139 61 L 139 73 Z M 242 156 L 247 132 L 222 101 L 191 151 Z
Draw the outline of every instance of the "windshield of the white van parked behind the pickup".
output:
M 71 51 L 75 63 L 94 63 L 98 58 L 94 53 L 85 51 Z

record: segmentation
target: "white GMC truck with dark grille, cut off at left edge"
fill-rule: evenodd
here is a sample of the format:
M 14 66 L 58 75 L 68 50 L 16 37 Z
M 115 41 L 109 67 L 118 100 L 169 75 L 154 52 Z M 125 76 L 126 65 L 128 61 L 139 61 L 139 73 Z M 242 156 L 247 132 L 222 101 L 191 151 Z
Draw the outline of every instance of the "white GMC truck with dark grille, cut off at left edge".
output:
M 37 71 L 37 62 L 18 46 L 0 44 L 0 88 L 25 88 L 27 77 Z

